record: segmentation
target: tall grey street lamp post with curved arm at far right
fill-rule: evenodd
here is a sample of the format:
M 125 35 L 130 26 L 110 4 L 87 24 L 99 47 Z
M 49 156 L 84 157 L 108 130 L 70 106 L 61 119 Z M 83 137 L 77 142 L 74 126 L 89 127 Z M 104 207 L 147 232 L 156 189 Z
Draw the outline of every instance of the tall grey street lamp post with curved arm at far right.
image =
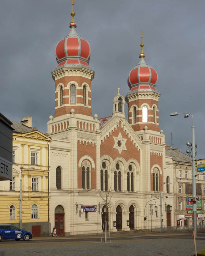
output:
M 177 115 L 184 115 L 184 118 L 191 116 L 192 118 L 192 126 L 191 126 L 191 136 L 192 136 L 192 196 L 197 196 L 196 191 L 196 177 L 195 177 L 195 126 L 194 126 L 194 118 L 191 113 L 171 113 L 170 116 L 177 116 Z M 193 201 L 193 221 L 192 221 L 192 228 L 195 233 L 195 237 L 197 237 L 197 202 Z

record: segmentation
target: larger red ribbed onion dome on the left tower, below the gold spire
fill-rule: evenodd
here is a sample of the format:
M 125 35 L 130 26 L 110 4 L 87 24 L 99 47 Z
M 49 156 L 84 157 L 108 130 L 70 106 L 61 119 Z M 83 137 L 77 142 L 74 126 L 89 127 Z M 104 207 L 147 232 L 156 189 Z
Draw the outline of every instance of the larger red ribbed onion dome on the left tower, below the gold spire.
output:
M 76 33 L 75 27 L 72 25 L 69 35 L 60 40 L 56 45 L 55 55 L 58 63 L 56 68 L 72 64 L 89 67 L 90 45 Z

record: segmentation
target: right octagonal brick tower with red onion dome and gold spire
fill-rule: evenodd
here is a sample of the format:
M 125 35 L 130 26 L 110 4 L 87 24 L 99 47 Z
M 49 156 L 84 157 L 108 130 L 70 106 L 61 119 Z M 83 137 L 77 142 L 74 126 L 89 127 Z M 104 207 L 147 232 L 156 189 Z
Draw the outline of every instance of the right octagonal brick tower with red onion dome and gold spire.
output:
M 130 71 L 126 95 L 128 104 L 128 122 L 134 131 L 141 131 L 146 126 L 148 130 L 159 132 L 160 93 L 156 89 L 157 72 L 146 64 L 143 53 L 143 32 L 141 31 L 141 53 L 139 63 Z

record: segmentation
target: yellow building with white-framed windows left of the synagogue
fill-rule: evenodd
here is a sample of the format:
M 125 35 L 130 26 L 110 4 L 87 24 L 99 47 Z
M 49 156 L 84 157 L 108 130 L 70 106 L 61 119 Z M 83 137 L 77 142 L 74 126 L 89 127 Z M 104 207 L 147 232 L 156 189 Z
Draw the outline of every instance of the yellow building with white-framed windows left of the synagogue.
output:
M 12 181 L 0 181 L 0 223 L 20 222 L 20 179 L 22 179 L 22 229 L 34 237 L 48 236 L 50 223 L 49 142 L 51 139 L 34 127 L 31 116 L 12 121 Z

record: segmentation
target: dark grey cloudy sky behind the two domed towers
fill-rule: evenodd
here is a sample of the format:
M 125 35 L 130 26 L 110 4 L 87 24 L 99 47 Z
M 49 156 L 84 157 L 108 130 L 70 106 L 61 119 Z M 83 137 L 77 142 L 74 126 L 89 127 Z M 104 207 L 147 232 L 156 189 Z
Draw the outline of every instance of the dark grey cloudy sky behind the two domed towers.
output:
M 1 112 L 20 121 L 31 115 L 43 133 L 54 115 L 55 46 L 68 35 L 70 0 L 7 0 L 0 8 Z M 126 96 L 127 77 L 139 62 L 143 30 L 145 61 L 158 73 L 160 129 L 166 143 L 185 152 L 191 141 L 194 115 L 197 158 L 204 158 L 205 1 L 204 0 L 76 0 L 77 33 L 91 46 L 92 113 L 112 114 L 120 88 Z

